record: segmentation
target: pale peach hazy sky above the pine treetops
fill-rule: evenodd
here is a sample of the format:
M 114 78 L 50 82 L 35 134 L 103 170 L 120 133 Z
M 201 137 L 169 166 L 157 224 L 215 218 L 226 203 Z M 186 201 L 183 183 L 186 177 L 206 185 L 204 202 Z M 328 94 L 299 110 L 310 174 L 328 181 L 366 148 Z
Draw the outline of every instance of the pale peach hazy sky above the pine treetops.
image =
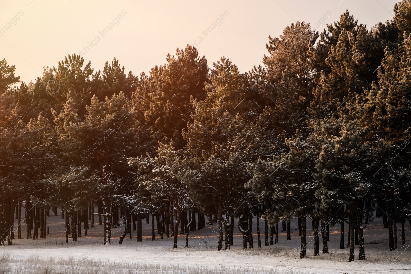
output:
M 26 84 L 42 76 L 44 66 L 57 67 L 67 54 L 80 51 L 95 71 L 116 57 L 127 72 L 139 76 L 164 64 L 167 53 L 196 43 L 210 67 L 226 56 L 245 72 L 261 64 L 268 35 L 278 37 L 293 22 L 305 21 L 315 28 L 315 23 L 337 21 L 348 9 L 370 28 L 392 19 L 396 2 L 0 0 L 0 59 L 15 64 L 16 75 Z M 209 27 L 213 30 L 206 37 L 202 32 Z M 200 36 L 203 41 L 196 41 Z

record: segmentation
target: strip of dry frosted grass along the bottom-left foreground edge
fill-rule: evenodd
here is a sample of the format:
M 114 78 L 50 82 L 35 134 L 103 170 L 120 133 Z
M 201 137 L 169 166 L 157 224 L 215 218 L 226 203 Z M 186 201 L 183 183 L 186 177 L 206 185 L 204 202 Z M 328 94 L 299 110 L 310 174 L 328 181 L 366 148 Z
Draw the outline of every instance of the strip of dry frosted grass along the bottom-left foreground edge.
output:
M 41 259 L 32 256 L 14 260 L 9 253 L 0 253 L 0 274 L 304 274 L 292 270 L 199 267 L 137 262 L 110 262 L 90 259 Z

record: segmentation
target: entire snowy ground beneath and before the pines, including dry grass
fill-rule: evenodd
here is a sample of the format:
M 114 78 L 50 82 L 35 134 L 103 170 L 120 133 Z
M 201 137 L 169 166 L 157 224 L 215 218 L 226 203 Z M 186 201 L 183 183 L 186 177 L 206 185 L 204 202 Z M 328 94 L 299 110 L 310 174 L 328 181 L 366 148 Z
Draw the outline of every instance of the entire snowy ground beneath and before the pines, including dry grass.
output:
M 264 223 L 260 221 L 261 244 L 258 248 L 254 219 L 254 249 L 242 249 L 242 236 L 237 227 L 234 245 L 230 250 L 217 251 L 217 224 L 192 231 L 189 247 L 185 247 L 185 235 L 179 235 L 178 248 L 173 249 L 173 238 L 160 239 L 157 234 L 151 240 L 151 223 L 143 219 L 143 242 L 137 242 L 136 231 L 118 244 L 124 225 L 114 228 L 111 244 L 104 246 L 103 227 L 95 225 L 88 236 L 78 242 L 65 244 L 64 220 L 60 216 L 47 218 L 49 234 L 46 239 L 14 239 L 12 245 L 0 246 L 0 274 L 5 273 L 287 273 L 287 274 L 383 274 L 411 273 L 411 246 L 402 245 L 399 225 L 398 249 L 388 249 L 388 229 L 381 218 L 374 218 L 364 228 L 367 260 L 348 261 L 348 248 L 339 249 L 339 225 L 330 228 L 328 254 L 314 254 L 314 237 L 311 221 L 307 218 L 307 258 L 300 259 L 300 237 L 297 222 L 291 223 L 291 240 L 286 241 L 281 223 L 279 243 L 264 246 Z M 89 221 L 90 222 L 90 221 Z M 151 222 L 151 220 L 150 220 Z M 237 225 L 237 222 L 236 222 Z M 26 226 L 21 225 L 26 237 Z M 347 235 L 346 226 L 346 235 Z M 406 223 L 406 243 L 411 243 L 409 224 Z M 17 234 L 15 233 L 17 236 Z M 347 237 L 345 237 L 345 244 Z M 321 237 L 320 237 L 321 252 Z M 355 250 L 358 257 L 358 245 Z M 92 269 L 92 270 L 90 270 Z

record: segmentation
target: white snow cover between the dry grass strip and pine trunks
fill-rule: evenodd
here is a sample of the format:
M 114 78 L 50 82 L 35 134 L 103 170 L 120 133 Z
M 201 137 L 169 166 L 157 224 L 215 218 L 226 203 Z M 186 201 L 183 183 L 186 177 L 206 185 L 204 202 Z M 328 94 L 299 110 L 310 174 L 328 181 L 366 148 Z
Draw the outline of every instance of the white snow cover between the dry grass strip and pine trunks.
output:
M 279 223 L 279 244 L 263 246 L 258 248 L 256 223 L 254 218 L 254 249 L 242 249 L 242 235 L 235 228 L 234 246 L 231 250 L 217 251 L 217 223 L 207 226 L 201 230 L 192 231 L 189 234 L 189 247 L 185 245 L 185 235 L 179 235 L 178 248 L 173 249 L 173 238 L 159 239 L 156 230 L 156 239 L 151 241 L 151 223 L 145 224 L 143 220 L 143 242 L 137 242 L 136 231 L 132 232 L 133 238 L 128 235 L 123 244 L 118 244 L 118 239 L 124 231 L 124 225 L 113 228 L 111 245 L 103 245 L 103 226 L 95 224 L 95 228 L 89 228 L 88 236 L 78 238 L 78 242 L 65 244 L 64 220 L 60 216 L 47 218 L 50 234 L 46 239 L 14 239 L 13 245 L 0 246 L 0 252 L 12 253 L 12 258 L 25 259 L 32 256 L 40 258 L 89 258 L 93 260 L 122 262 L 122 263 L 159 263 L 172 265 L 195 265 L 204 267 L 231 267 L 247 269 L 275 269 L 276 273 L 307 274 L 354 274 L 354 273 L 411 273 L 411 251 L 409 244 L 402 246 L 398 244 L 396 251 L 388 251 L 388 229 L 384 229 L 380 218 L 367 224 L 364 229 L 365 261 L 348 261 L 349 250 L 339 249 L 339 225 L 330 229 L 330 241 L 328 242 L 328 254 L 312 256 L 314 253 L 314 237 L 311 230 L 311 221 L 307 218 L 307 258 L 300 259 L 300 238 L 296 230 L 296 221 L 291 222 L 291 240 L 286 241 L 286 232 L 282 232 Z M 97 221 L 97 218 L 95 218 Z M 151 219 L 150 219 L 151 221 Z M 90 222 L 90 221 L 89 221 Z M 237 221 L 236 221 L 237 224 Z M 408 225 L 408 223 L 407 223 Z M 410 241 L 410 230 L 406 225 L 406 241 Z M 25 224 L 22 224 L 22 236 L 25 237 Z M 261 244 L 264 245 L 264 225 L 260 219 Z M 346 231 L 347 233 L 347 231 Z M 16 235 L 16 234 L 15 234 Z M 401 231 L 398 232 L 401 241 Z M 347 243 L 345 237 L 345 243 Z M 321 239 L 320 239 L 321 252 Z M 358 245 L 355 247 L 356 258 L 358 256 Z

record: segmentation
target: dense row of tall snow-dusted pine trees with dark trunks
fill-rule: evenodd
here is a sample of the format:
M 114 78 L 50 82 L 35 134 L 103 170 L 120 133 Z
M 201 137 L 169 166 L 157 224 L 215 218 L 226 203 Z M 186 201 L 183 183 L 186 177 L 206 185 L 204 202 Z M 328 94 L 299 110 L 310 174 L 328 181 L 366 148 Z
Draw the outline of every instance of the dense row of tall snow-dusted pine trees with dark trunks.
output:
M 348 11 L 321 33 L 293 23 L 269 37 L 264 66 L 248 73 L 225 57 L 209 69 L 187 45 L 139 77 L 116 59 L 94 71 L 73 54 L 16 87 L 15 67 L 3 60 L 1 244 L 12 243 L 22 201 L 34 239 L 38 229 L 45 237 L 48 209 L 60 207 L 67 242 L 86 215 L 102 219 L 110 242 L 121 212 L 122 239 L 136 221 L 141 241 L 141 219 L 151 213 L 153 233 L 157 216 L 174 247 L 179 226 L 188 245 L 197 212 L 202 226 L 205 216 L 217 221 L 218 250 L 232 244 L 235 217 L 245 248 L 253 247 L 253 217 L 265 220 L 266 245 L 269 228 L 273 235 L 279 221 L 297 218 L 301 258 L 307 217 L 314 256 L 320 233 L 328 253 L 330 225 L 341 226 L 344 248 L 346 223 L 349 261 L 356 240 L 365 259 L 363 223 L 374 216 L 388 228 L 390 250 L 397 223 L 405 244 L 411 2 L 394 12 L 371 29 Z

